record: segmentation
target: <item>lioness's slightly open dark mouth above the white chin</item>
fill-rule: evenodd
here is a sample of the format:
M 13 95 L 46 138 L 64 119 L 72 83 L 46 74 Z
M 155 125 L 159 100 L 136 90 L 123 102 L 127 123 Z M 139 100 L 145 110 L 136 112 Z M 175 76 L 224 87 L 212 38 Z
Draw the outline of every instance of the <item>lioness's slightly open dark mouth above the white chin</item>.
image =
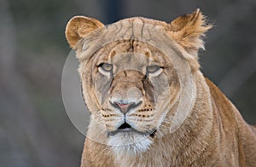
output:
M 108 135 L 117 135 L 119 133 L 137 133 L 140 135 L 150 135 L 150 137 L 154 138 L 156 130 L 148 130 L 146 132 L 141 132 L 138 130 L 135 130 L 131 127 L 130 124 L 127 124 L 126 122 L 124 124 L 121 124 L 117 130 L 109 131 Z

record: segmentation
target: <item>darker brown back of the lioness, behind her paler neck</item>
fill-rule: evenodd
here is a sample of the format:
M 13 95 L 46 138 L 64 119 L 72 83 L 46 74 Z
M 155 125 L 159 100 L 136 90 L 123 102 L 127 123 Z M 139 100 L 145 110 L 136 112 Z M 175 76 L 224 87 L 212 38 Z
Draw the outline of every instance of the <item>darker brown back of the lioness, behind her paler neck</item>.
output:
M 218 87 L 206 78 L 210 89 L 215 126 L 219 133 L 220 147 L 233 145 L 238 148 L 241 164 L 256 164 L 256 126 L 249 125 L 240 112 Z

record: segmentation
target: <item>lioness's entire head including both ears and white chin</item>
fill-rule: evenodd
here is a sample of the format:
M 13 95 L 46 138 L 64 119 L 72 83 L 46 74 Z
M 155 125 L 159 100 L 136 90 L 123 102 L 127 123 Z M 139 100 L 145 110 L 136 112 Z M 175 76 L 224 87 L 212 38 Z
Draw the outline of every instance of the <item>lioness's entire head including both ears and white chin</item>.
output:
M 199 69 L 201 36 L 210 27 L 199 10 L 170 24 L 145 18 L 108 26 L 84 16 L 70 20 L 67 41 L 80 61 L 91 113 L 88 136 L 115 151 L 138 153 L 169 133 L 175 116 L 182 122 Z

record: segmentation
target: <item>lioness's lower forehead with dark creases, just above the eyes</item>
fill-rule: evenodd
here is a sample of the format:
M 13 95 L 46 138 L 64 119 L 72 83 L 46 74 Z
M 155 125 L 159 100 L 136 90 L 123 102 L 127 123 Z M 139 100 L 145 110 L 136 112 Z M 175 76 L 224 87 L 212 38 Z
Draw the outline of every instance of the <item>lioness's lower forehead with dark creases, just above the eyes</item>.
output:
M 136 40 L 124 40 L 102 47 L 98 52 L 99 61 L 109 61 L 116 64 L 142 66 L 153 62 L 163 66 L 166 55 L 154 46 Z

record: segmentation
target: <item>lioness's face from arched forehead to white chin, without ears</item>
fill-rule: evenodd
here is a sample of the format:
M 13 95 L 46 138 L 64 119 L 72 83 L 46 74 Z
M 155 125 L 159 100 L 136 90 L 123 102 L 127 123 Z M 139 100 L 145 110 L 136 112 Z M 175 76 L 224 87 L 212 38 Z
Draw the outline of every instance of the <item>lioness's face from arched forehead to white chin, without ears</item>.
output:
M 171 61 L 142 42 L 110 43 L 81 62 L 79 72 L 84 90 L 96 97 L 99 110 L 91 114 L 110 145 L 152 140 L 180 89 Z

